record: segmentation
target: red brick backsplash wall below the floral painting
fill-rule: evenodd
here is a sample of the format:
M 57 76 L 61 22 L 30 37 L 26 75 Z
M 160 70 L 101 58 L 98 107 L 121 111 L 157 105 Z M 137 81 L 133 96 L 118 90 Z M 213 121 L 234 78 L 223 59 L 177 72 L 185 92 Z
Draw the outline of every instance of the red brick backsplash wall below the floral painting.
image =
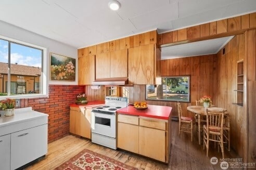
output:
M 23 98 L 21 107 L 32 107 L 35 111 L 48 114 L 48 143 L 69 134 L 69 105 L 84 86 L 49 85 L 49 97 Z

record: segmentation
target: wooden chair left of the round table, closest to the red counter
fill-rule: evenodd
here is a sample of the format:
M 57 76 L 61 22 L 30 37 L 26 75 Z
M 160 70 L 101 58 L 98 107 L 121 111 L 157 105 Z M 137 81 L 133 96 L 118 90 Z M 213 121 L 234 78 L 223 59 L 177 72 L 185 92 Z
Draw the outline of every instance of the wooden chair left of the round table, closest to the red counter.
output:
M 178 135 L 181 136 L 181 132 L 190 133 L 191 141 L 193 141 L 193 118 L 183 117 L 181 104 L 177 103 L 178 107 Z

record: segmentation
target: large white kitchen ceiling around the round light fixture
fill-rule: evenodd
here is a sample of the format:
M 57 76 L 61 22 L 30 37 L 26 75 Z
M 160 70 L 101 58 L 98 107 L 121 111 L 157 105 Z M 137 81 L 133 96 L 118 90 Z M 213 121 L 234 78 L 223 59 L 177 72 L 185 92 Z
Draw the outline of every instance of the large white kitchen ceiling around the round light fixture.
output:
M 87 47 L 150 30 L 159 33 L 256 11 L 255 0 L 1 0 L 0 20 Z M 1 34 L 1 32 L 0 32 Z

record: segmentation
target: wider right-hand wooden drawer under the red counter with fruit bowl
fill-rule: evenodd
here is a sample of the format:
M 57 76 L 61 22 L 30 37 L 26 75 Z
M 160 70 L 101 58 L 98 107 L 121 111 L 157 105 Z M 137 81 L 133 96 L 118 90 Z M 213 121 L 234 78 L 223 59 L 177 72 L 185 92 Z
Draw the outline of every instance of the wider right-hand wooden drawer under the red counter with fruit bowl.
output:
M 165 121 L 156 120 L 152 118 L 139 118 L 139 125 L 145 127 L 151 127 L 154 129 L 160 129 L 165 131 Z

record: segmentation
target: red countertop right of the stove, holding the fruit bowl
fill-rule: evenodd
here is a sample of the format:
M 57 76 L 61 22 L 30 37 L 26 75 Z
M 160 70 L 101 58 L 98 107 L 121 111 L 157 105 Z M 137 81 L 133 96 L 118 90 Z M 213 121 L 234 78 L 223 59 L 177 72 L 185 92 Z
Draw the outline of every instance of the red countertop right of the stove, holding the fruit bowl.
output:
M 145 110 L 137 110 L 133 106 L 127 106 L 125 108 L 117 110 L 119 114 L 144 116 L 149 118 L 165 119 L 168 120 L 171 116 L 172 107 L 169 106 L 157 106 L 147 105 Z

